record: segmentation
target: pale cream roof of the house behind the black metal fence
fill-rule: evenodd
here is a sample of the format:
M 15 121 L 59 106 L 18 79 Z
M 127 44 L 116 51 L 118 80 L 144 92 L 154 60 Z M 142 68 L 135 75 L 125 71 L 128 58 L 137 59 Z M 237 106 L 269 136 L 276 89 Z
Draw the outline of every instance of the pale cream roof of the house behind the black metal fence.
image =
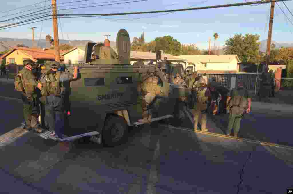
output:
M 241 62 L 236 54 L 231 55 L 180 55 L 180 58 L 186 59 L 188 63 L 230 63 L 235 58 Z

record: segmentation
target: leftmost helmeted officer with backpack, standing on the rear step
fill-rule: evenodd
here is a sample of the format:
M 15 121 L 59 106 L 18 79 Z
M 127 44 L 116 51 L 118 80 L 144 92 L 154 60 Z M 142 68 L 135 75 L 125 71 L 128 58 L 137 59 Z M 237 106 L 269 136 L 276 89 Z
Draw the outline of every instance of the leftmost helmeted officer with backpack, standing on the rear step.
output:
M 42 129 L 38 124 L 39 104 L 36 94 L 37 87 L 40 89 L 42 84 L 38 82 L 35 75 L 38 71 L 35 62 L 27 59 L 23 61 L 23 64 L 24 68 L 19 71 L 14 81 L 15 89 L 21 92 L 26 129 L 28 131 L 34 129 L 41 133 Z

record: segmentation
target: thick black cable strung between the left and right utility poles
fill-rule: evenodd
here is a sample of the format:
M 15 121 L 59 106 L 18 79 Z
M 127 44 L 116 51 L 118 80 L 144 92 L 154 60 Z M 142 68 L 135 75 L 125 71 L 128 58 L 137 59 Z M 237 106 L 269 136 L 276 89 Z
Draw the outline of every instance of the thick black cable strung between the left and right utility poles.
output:
M 163 11 L 144 11 L 144 12 L 127 12 L 127 13 L 101 13 L 101 14 L 57 14 L 57 16 L 94 17 L 94 16 L 120 16 L 120 15 L 132 15 L 132 14 L 147 14 L 147 13 L 166 13 L 166 12 L 177 12 L 177 11 L 191 11 L 191 10 L 200 10 L 200 9 L 244 6 L 244 5 L 252 5 L 252 4 L 268 4 L 268 3 L 272 2 L 272 1 L 277 2 L 277 1 L 292 1 L 292 0 L 254 1 L 254 2 L 249 2 L 249 3 L 225 4 L 225 5 L 196 7 L 196 8 L 163 10 Z M 74 17 L 63 17 L 63 18 L 74 18 Z

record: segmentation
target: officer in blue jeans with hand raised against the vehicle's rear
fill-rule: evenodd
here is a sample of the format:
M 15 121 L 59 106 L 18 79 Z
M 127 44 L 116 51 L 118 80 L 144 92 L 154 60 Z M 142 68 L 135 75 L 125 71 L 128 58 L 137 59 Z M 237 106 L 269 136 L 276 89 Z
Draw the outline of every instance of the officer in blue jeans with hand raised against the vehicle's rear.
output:
M 64 82 L 77 78 L 78 68 L 74 67 L 74 74 L 58 71 L 60 63 L 52 61 L 50 69 L 44 73 L 40 81 L 44 84 L 41 89 L 43 96 L 46 96 L 45 102 L 45 123 L 48 130 L 52 131 L 55 138 L 63 138 L 65 127 L 65 109 L 64 96 L 66 88 Z

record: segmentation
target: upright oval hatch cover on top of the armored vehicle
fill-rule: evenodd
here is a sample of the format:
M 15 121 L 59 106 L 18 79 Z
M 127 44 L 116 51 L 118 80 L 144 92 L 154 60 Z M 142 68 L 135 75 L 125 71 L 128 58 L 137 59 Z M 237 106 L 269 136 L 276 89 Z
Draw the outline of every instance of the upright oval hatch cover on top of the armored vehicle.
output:
M 120 29 L 117 38 L 118 59 L 124 64 L 130 64 L 130 37 L 125 29 Z

